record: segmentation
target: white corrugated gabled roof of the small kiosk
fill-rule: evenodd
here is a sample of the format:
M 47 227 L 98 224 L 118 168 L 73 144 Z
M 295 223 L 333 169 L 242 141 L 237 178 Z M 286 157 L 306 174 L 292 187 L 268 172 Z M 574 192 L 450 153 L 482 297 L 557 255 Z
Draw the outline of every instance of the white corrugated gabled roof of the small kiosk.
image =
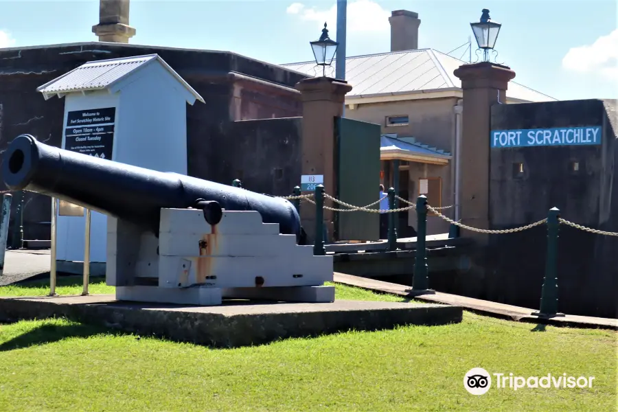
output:
M 197 93 L 181 76 L 179 76 L 170 65 L 168 65 L 158 54 L 148 54 L 146 56 L 113 58 L 108 60 L 96 60 L 87 62 L 64 75 L 43 84 L 36 91 L 40 91 L 45 99 L 56 94 L 66 94 L 76 91 L 104 90 L 113 87 L 120 80 L 123 80 L 130 73 L 146 67 L 153 62 L 159 62 L 167 69 L 176 80 L 178 80 L 189 91 L 196 100 L 204 102 Z M 192 103 L 192 102 L 190 102 Z

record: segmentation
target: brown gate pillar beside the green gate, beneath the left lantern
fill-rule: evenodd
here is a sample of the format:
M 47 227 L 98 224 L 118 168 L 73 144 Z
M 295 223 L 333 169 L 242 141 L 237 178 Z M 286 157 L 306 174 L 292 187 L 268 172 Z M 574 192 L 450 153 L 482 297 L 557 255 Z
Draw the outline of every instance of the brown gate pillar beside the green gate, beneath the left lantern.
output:
M 335 117 L 343 115 L 345 94 L 352 86 L 343 80 L 310 78 L 296 84 L 303 102 L 303 129 L 301 144 L 302 174 L 323 174 L 325 192 L 336 193 L 335 174 Z M 332 207 L 331 201 L 325 205 Z M 301 222 L 308 238 L 313 241 L 315 233 L 315 207 L 310 203 L 301 205 Z M 328 240 L 332 241 L 334 213 L 324 211 Z

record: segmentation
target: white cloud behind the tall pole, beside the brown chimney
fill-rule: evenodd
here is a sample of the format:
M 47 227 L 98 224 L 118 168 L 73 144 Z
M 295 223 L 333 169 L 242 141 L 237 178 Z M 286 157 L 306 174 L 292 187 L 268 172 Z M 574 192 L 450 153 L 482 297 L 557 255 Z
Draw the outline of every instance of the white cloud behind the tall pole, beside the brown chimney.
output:
M 319 10 L 307 8 L 302 3 L 290 4 L 288 14 L 296 14 L 301 20 L 314 21 L 317 27 L 328 23 L 329 34 L 334 33 L 337 22 L 337 6 Z M 378 3 L 371 0 L 351 1 L 347 5 L 347 32 L 388 32 L 390 30 L 389 16 L 391 12 L 383 9 Z

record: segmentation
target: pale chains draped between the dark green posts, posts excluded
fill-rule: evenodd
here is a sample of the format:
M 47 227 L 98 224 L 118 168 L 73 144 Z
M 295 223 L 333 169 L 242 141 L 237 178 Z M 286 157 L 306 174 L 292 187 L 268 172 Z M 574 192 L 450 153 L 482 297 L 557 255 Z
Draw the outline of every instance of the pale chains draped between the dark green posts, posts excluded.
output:
M 315 202 L 312 200 L 313 196 L 314 196 L 314 194 L 303 194 L 303 195 L 300 195 L 300 196 L 279 196 L 279 197 L 287 199 L 288 201 L 293 201 L 293 200 L 307 201 L 307 202 L 312 203 L 313 205 L 315 205 Z M 324 194 L 324 198 L 328 198 L 328 199 L 330 199 L 334 203 L 337 203 L 337 204 L 339 204 L 341 206 L 347 207 L 347 209 L 339 209 L 339 208 L 336 208 L 336 207 L 324 206 L 324 209 L 332 210 L 332 211 L 339 211 L 339 212 L 345 212 L 345 211 L 366 211 L 366 212 L 369 212 L 369 213 L 384 214 L 384 213 L 397 213 L 397 212 L 400 212 L 400 211 L 416 209 L 415 203 L 412 203 L 411 201 L 408 201 L 407 199 L 401 198 L 400 196 L 395 196 L 395 198 L 398 201 L 401 201 L 402 203 L 405 203 L 405 204 L 407 204 L 409 206 L 407 206 L 407 207 L 399 207 L 397 209 L 369 209 L 369 207 L 374 206 L 374 205 L 378 205 L 381 201 L 383 201 L 386 198 L 388 198 L 388 195 L 380 198 L 378 201 L 375 201 L 374 203 L 370 203 L 369 205 L 365 205 L 365 206 L 350 205 L 350 203 L 345 203 L 343 201 L 340 201 L 339 199 L 334 198 L 333 196 L 330 196 L 330 194 L 327 194 L 327 193 Z M 441 214 L 439 212 L 439 210 L 450 209 L 453 206 L 455 206 L 455 205 L 443 206 L 443 207 L 433 207 L 433 206 L 427 205 L 427 210 L 431 211 L 433 214 L 435 214 L 435 216 L 437 216 L 439 218 L 442 218 L 443 220 L 446 220 L 446 222 L 450 223 L 451 225 L 455 225 L 455 226 L 461 227 L 461 229 L 466 229 L 466 230 L 474 231 L 474 232 L 477 232 L 477 233 L 488 233 L 488 234 L 494 234 L 494 235 L 505 234 L 505 233 L 517 233 L 517 232 L 520 232 L 520 231 L 525 231 L 525 230 L 528 230 L 528 229 L 532 229 L 533 227 L 544 225 L 547 222 L 547 218 L 545 218 L 545 219 L 538 220 L 537 222 L 530 223 L 529 225 L 525 225 L 525 226 L 521 226 L 521 227 L 514 227 L 512 229 L 479 229 L 477 227 L 472 227 L 472 226 L 464 225 L 463 223 L 455 221 L 455 220 L 453 220 L 451 218 L 448 218 L 447 216 L 444 216 L 444 214 Z M 617 232 L 603 231 L 603 230 L 599 230 L 599 229 L 591 229 L 590 227 L 586 227 L 586 226 L 583 226 L 583 225 L 578 225 L 577 223 L 570 222 L 569 220 L 566 220 L 566 219 L 563 219 L 563 218 L 559 218 L 558 221 L 562 225 L 571 226 L 571 227 L 574 227 L 575 229 L 580 229 L 582 231 L 587 231 L 589 233 L 595 233 L 597 235 L 603 235 L 603 236 L 617 236 L 618 237 L 618 233 Z

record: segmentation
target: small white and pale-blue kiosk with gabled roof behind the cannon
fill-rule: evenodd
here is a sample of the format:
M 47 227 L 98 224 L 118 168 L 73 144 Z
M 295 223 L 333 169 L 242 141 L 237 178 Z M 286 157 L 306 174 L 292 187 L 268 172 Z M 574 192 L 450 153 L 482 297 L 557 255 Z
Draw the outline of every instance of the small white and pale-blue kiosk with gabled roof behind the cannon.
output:
M 160 172 L 187 174 L 186 104 L 204 102 L 157 54 L 87 62 L 36 89 L 65 97 L 62 148 Z M 58 271 L 81 273 L 86 218 L 60 201 Z M 107 218 L 92 212 L 91 271 L 106 262 Z

